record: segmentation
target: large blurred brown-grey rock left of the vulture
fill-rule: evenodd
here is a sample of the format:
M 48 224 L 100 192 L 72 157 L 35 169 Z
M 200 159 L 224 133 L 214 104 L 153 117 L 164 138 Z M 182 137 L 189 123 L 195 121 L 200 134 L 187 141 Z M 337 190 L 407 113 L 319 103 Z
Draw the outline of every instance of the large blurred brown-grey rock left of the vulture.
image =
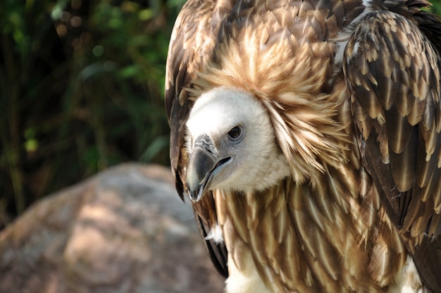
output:
M 203 245 L 168 169 L 118 166 L 0 232 L 0 292 L 222 292 Z

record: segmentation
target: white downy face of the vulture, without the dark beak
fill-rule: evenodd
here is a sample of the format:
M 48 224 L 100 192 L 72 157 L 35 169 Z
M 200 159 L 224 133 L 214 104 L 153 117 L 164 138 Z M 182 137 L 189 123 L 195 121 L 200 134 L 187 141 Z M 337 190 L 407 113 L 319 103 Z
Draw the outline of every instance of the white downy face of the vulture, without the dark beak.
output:
M 187 130 L 190 156 L 197 138 L 206 137 L 213 146 L 210 156 L 222 163 L 216 165 L 221 168 L 213 168 L 209 189 L 266 188 L 271 185 L 266 181 L 273 180 L 264 175 L 271 172 L 268 161 L 282 165 L 283 177 L 289 173 L 286 161 L 278 162 L 282 156 L 266 109 L 242 89 L 218 87 L 202 94 L 192 108 Z

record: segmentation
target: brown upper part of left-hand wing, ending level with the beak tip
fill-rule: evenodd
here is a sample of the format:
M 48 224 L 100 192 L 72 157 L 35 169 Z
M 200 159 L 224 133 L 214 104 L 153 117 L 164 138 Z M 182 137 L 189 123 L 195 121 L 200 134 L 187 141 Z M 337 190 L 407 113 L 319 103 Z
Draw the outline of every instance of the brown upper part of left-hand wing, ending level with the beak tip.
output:
M 192 101 L 188 99 L 186 87 L 197 70 L 203 66 L 206 49 L 201 40 L 209 33 L 209 23 L 215 1 L 188 1 L 176 19 L 170 37 L 166 66 L 166 111 L 170 124 L 170 164 L 175 175 L 176 188 L 183 199 L 185 186 L 182 183 L 183 170 L 187 164 L 185 151 L 185 121 L 187 120 Z M 211 37 L 213 39 L 213 37 Z M 209 38 L 207 39 L 207 42 Z M 212 48 L 211 48 L 212 49 Z

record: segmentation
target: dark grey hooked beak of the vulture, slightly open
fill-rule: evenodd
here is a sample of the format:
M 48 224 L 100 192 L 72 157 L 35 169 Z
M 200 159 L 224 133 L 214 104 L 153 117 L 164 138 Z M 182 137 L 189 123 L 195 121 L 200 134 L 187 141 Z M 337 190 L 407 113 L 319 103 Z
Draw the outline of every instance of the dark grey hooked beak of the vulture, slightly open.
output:
M 186 180 L 190 199 L 199 201 L 211 186 L 213 177 L 230 161 L 230 157 L 218 159 L 218 151 L 208 135 L 197 137 L 187 165 Z

